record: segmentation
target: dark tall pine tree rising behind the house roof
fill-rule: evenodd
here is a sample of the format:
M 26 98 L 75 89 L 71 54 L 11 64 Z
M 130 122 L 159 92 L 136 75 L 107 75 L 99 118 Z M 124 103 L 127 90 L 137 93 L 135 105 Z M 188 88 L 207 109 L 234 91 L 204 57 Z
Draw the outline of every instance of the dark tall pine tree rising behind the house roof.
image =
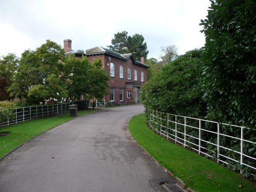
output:
M 126 31 L 114 34 L 114 38 L 111 40 L 112 45 L 107 47 L 122 54 L 132 53 L 137 60 L 140 60 L 141 57 L 146 59 L 148 50 L 144 37 L 140 34 L 133 36 L 127 34 Z

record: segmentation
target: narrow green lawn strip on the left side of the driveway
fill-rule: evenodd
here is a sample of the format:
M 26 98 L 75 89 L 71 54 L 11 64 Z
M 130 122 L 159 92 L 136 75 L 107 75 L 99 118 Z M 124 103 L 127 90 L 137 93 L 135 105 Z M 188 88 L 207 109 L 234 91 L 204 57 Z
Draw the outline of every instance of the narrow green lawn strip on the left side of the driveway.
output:
M 94 111 L 97 111 L 97 109 L 78 111 L 78 116 L 92 113 Z M 66 113 L 59 116 L 34 119 L 18 124 L 12 124 L 10 126 L 0 127 L 0 132 L 10 132 L 9 135 L 0 137 L 0 158 L 34 136 L 74 118 L 75 117 L 70 117 L 69 113 Z

